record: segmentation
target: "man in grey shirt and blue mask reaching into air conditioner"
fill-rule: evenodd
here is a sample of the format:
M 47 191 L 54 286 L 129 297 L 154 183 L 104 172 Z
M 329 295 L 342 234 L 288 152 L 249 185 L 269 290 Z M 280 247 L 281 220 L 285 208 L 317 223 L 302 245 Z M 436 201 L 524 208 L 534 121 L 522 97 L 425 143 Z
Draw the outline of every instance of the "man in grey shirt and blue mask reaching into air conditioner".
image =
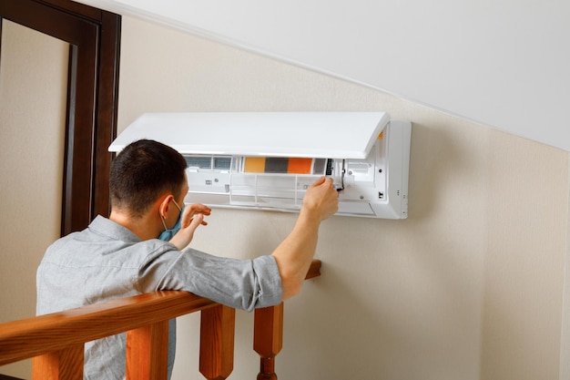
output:
M 210 209 L 184 207 L 186 160 L 176 150 L 146 139 L 131 143 L 113 160 L 109 189 L 108 219 L 97 216 L 86 230 L 47 249 L 37 270 L 38 314 L 158 290 L 188 291 L 248 311 L 278 304 L 300 292 L 320 223 L 338 209 L 332 181 L 321 178 L 274 252 L 235 260 L 186 248 Z M 170 325 L 168 375 L 175 338 Z M 125 334 L 86 344 L 84 377 L 124 378 L 125 344 Z

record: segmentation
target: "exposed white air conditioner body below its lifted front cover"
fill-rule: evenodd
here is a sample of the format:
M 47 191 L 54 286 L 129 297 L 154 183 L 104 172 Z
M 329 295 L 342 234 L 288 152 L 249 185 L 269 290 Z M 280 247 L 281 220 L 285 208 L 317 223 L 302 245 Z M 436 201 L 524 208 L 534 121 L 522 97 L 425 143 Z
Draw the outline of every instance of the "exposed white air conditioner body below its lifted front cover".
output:
M 337 215 L 405 219 L 411 124 L 386 125 L 365 159 L 183 154 L 188 163 L 187 203 L 212 207 L 299 211 L 321 176 L 339 191 Z

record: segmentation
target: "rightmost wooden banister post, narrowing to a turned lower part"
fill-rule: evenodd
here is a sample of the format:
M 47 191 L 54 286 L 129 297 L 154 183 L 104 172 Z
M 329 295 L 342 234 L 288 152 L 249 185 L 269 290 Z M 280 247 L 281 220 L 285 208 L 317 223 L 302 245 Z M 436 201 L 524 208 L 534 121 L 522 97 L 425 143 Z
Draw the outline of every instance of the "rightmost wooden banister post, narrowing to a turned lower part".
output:
M 260 354 L 258 380 L 276 380 L 275 356 L 283 347 L 283 303 L 255 310 L 253 349 Z

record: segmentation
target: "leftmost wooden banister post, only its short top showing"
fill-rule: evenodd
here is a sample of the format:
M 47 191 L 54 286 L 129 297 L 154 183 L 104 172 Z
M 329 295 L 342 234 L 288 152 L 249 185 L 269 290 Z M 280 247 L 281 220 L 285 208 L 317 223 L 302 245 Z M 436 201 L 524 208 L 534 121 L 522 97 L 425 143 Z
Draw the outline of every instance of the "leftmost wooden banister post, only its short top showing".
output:
M 63 350 L 34 358 L 34 380 L 83 380 L 83 344 L 73 344 Z

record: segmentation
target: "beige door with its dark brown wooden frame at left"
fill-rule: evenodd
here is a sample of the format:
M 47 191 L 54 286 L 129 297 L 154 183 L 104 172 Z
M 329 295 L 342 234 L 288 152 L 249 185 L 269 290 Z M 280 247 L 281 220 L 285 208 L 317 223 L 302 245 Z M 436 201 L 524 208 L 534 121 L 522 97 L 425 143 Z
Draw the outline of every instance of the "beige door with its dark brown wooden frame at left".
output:
M 0 322 L 36 310 L 46 246 L 108 214 L 120 16 L 0 0 Z M 29 378 L 31 361 L 0 373 Z

